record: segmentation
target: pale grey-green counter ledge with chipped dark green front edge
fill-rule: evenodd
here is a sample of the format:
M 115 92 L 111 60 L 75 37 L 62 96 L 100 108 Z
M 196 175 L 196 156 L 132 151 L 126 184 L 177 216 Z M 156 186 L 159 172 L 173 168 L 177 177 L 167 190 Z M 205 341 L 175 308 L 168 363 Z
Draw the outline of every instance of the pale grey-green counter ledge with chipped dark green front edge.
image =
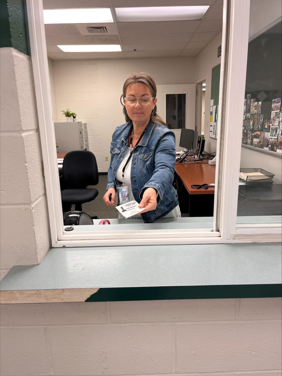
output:
M 1 281 L 3 304 L 280 296 L 280 243 L 53 248 Z

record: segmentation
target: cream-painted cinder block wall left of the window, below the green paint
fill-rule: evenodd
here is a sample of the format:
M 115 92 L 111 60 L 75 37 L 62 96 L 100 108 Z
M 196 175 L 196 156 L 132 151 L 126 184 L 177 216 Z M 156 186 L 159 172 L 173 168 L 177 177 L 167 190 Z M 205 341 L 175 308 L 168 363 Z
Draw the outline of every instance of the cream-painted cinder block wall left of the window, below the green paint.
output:
M 50 247 L 29 56 L 0 49 L 1 274 L 38 264 Z

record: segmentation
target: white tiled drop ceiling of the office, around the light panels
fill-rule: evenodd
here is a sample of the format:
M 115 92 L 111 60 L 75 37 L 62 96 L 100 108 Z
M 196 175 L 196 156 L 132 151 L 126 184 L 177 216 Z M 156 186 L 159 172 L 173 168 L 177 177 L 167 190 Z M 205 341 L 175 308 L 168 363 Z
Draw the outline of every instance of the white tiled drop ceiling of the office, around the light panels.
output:
M 50 59 L 196 56 L 222 30 L 223 0 L 143 0 L 142 6 L 210 5 L 199 21 L 149 21 L 45 25 Z M 140 0 L 43 0 L 44 9 L 137 7 Z M 106 27 L 90 33 L 87 27 Z M 57 45 L 120 44 L 122 52 L 62 52 Z

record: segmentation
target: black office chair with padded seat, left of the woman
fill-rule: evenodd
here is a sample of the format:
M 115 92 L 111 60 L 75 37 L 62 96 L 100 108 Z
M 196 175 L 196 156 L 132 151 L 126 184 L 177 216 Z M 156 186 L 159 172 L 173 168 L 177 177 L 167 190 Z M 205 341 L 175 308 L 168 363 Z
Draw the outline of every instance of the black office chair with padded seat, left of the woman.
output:
M 63 182 L 68 189 L 61 191 L 63 212 L 71 210 L 82 211 L 81 204 L 90 202 L 98 196 L 95 188 L 88 185 L 98 184 L 98 167 L 95 155 L 88 150 L 75 150 L 65 155 L 63 159 Z

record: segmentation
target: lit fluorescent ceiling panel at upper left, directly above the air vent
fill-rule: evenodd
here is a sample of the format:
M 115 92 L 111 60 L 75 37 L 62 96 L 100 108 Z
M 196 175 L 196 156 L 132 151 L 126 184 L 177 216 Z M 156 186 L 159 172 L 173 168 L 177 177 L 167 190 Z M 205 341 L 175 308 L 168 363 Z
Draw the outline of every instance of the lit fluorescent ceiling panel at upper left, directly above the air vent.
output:
M 110 8 L 44 9 L 45 24 L 114 22 Z

